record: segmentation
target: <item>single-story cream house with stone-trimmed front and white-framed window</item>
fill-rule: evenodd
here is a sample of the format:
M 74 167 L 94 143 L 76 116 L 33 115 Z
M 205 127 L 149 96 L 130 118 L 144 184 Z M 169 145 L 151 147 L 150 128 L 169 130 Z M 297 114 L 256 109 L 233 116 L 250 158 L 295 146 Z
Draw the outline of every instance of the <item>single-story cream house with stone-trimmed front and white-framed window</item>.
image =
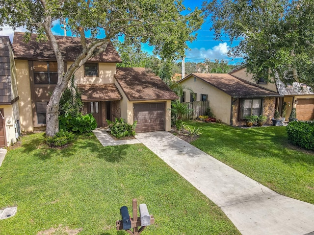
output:
M 191 73 L 179 83 L 193 91 L 186 91 L 182 100 L 209 100 L 216 118 L 232 126 L 245 125 L 248 115 L 265 115 L 271 123 L 276 97 L 281 96 L 227 73 Z

